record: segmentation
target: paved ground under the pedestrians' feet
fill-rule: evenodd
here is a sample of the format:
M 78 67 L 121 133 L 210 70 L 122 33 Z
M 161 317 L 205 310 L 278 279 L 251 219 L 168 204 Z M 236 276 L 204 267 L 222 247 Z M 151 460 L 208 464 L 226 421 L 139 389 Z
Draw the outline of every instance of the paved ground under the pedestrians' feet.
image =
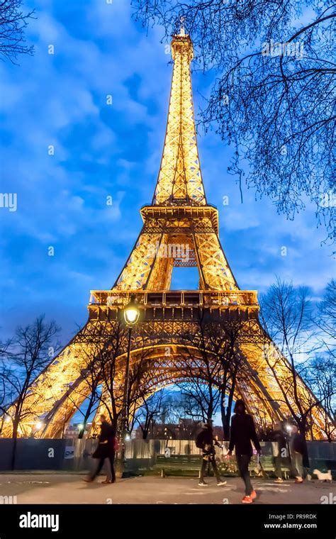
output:
M 0 503 L 16 496 L 17 504 L 240 504 L 243 490 L 238 477 L 217 487 L 213 478 L 208 487 L 198 487 L 198 479 L 189 477 L 132 477 L 116 484 L 99 481 L 86 484 L 77 474 L 0 474 Z M 294 484 L 286 481 L 254 479 L 259 494 L 255 504 L 320 504 L 321 496 L 336 501 L 335 482 L 318 481 Z M 326 499 L 324 499 L 326 500 Z M 335 503 L 334 501 L 334 503 Z M 13 502 L 12 502 L 13 503 Z

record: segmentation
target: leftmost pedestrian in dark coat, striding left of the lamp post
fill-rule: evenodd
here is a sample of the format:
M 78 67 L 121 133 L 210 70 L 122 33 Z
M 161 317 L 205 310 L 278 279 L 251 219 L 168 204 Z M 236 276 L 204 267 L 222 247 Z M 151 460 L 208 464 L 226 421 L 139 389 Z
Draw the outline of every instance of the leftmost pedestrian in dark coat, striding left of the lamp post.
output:
M 99 435 L 99 444 L 96 450 L 94 451 L 92 457 L 97 460 L 94 470 L 89 474 L 84 481 L 92 482 L 99 475 L 101 468 L 105 459 L 108 459 L 110 469 L 108 470 L 107 477 L 105 481 L 102 481 L 103 484 L 115 483 L 116 482 L 116 472 L 114 471 L 114 458 L 116 455 L 116 433 L 113 427 L 108 421 L 106 421 L 106 416 L 101 414 L 101 432 Z

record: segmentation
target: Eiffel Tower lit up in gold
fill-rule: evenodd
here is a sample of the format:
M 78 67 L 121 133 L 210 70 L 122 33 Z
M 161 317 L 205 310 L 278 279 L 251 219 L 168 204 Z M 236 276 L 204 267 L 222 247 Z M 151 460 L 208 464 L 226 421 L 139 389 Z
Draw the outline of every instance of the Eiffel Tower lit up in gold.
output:
M 203 309 L 223 323 L 230 317 L 244 320 L 254 331 L 252 342 L 240 343 L 239 353 L 248 376 L 238 381 L 236 394 L 245 397 L 256 421 L 258 418 L 262 421 L 262 414 L 269 422 L 290 416 L 281 384 L 290 395 L 291 406 L 296 407 L 288 379 L 289 363 L 275 346 L 272 347 L 259 324 L 257 291 L 238 287 L 220 244 L 218 210 L 206 199 L 191 89 L 193 45 L 183 28 L 172 39 L 172 57 L 174 67 L 162 160 L 152 204 L 140 210 L 142 230 L 113 287 L 91 291 L 86 326 L 30 387 L 23 406 L 28 412 L 20 425 L 23 435 L 29 435 L 36 422 L 44 425 L 37 437 L 62 435 L 65 423 L 84 401 L 83 392 L 77 391 L 69 404 L 69 396 L 84 383 L 83 335 L 103 320 L 106 313 L 117 318 L 131 296 L 138 301 L 141 322 L 133 330 L 130 354 L 132 361 L 136 361 L 141 335 L 142 346 L 145 343 L 151 360 L 149 394 L 184 376 L 183 369 L 177 366 L 186 349 L 180 336 L 186 328 L 191 330 L 196 325 L 198 313 Z M 198 289 L 170 289 L 174 267 L 197 267 Z M 265 339 L 273 350 L 276 369 L 271 369 L 269 361 L 265 360 Z M 197 357 L 197 350 L 193 353 Z M 120 391 L 125 385 L 125 354 L 124 349 L 120 356 Z M 297 386 L 300 398 L 309 400 L 310 389 L 299 377 Z M 11 415 L 12 410 L 8 413 Z M 322 410 L 315 407 L 312 419 L 314 437 L 324 438 Z M 4 423 L 2 434 L 11 436 L 10 423 Z

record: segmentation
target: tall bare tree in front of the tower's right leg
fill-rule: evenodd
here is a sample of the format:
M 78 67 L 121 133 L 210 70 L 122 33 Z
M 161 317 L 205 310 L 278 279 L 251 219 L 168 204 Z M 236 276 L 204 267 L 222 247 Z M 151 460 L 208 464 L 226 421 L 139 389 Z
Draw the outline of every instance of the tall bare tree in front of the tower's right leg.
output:
M 306 444 L 310 415 L 321 404 L 312 391 L 301 389 L 306 361 L 314 351 L 315 326 L 308 289 L 277 280 L 261 297 L 261 321 L 266 330 L 264 359 Z M 269 343 L 269 338 L 274 341 Z M 308 357 L 307 357 L 308 356 Z M 284 361 L 284 357 L 288 361 Z

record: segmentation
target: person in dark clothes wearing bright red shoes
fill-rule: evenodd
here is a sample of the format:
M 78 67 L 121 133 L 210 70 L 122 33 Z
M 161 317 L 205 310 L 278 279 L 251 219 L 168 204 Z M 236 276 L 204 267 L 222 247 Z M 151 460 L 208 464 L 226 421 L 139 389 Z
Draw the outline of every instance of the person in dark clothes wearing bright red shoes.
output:
M 249 413 L 246 413 L 245 402 L 242 399 L 237 399 L 235 413 L 231 420 L 230 444 L 227 456 L 230 458 L 233 449 L 235 449 L 240 477 L 242 477 L 245 483 L 245 496 L 242 499 L 243 504 L 252 504 L 252 501 L 257 497 L 257 493 L 251 484 L 249 472 L 249 464 L 253 455 L 251 440 L 254 448 L 256 448 L 260 455 L 261 449 L 253 418 Z

